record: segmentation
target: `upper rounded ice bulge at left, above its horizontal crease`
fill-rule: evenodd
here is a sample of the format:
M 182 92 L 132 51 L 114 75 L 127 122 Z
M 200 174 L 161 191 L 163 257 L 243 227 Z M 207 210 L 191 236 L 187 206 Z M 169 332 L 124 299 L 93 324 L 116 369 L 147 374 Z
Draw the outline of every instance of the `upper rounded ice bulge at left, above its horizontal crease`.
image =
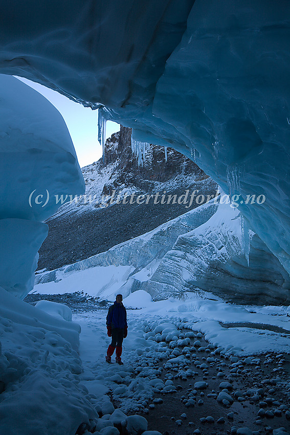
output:
M 44 221 L 56 195 L 83 193 L 74 145 L 56 108 L 20 80 L 0 75 L 0 219 Z

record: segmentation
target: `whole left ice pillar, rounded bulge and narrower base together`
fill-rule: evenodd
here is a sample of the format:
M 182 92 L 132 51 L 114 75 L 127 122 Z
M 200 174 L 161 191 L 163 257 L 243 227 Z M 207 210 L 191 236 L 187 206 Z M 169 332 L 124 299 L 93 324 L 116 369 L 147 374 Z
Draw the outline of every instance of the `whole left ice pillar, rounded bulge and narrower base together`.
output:
M 0 286 L 23 298 L 47 236 L 42 221 L 61 195 L 82 193 L 84 181 L 60 113 L 7 75 L 0 75 L 0 156 Z

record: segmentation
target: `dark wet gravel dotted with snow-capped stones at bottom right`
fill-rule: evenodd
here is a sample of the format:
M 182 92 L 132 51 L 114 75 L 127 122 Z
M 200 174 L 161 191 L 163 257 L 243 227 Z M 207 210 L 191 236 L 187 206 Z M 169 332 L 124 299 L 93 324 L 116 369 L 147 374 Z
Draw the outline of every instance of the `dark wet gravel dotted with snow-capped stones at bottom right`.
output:
M 224 435 L 247 427 L 258 435 L 271 434 L 273 429 L 284 427 L 289 432 L 290 356 L 256 355 L 257 364 L 248 365 L 245 361 L 238 362 L 244 358 L 229 359 L 204 338 L 198 340 L 201 345 L 196 346 L 196 352 L 190 351 L 182 369 L 180 366 L 166 369 L 166 363 L 159 364 L 163 369 L 161 378 L 171 380 L 176 393 L 156 395 L 155 399 L 162 402 L 152 403 L 154 407 L 149 405 L 148 430 L 159 430 L 163 435 Z M 182 347 L 180 352 L 183 352 Z M 213 361 L 209 362 L 208 358 Z M 182 375 L 181 371 L 187 369 L 195 371 L 194 379 Z M 195 388 L 197 381 L 204 381 L 206 387 Z M 221 390 L 231 397 L 232 404 L 219 403 Z

